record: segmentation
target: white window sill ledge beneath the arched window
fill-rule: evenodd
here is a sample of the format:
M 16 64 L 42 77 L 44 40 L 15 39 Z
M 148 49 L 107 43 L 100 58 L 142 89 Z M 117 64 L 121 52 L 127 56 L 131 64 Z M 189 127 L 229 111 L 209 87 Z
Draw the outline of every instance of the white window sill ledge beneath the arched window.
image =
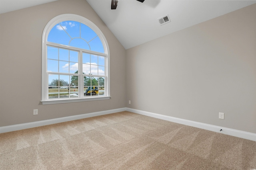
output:
M 74 103 L 74 102 L 86 102 L 86 101 L 96 101 L 96 100 L 108 100 L 111 96 L 104 97 L 94 97 L 94 98 L 73 98 L 73 99 L 58 99 L 58 100 L 42 100 L 42 105 L 46 104 L 61 104 L 61 103 Z

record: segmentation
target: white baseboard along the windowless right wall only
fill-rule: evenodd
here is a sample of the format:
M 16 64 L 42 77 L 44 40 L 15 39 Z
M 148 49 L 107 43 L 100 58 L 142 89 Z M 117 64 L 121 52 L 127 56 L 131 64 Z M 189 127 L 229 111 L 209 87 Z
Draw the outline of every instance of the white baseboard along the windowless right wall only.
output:
M 196 122 L 196 121 L 190 121 L 190 120 L 186 120 L 186 119 L 180 119 L 180 118 L 176 118 L 176 117 L 160 115 L 160 114 L 157 114 L 157 113 L 151 113 L 151 112 L 148 112 L 148 111 L 142 111 L 142 110 L 137 110 L 137 109 L 126 108 L 126 111 L 130 111 L 130 112 L 133 112 L 133 113 L 138 113 L 138 114 L 146 115 L 146 116 L 150 116 L 150 117 L 155 117 L 155 118 L 158 118 L 158 119 L 163 119 L 163 120 L 171 121 L 171 122 L 174 122 L 174 123 L 180 123 L 182 125 L 198 127 L 200 129 L 206 129 L 206 130 L 209 130 L 209 131 L 214 131 L 214 132 L 223 133 L 223 134 L 226 134 L 226 135 L 231 135 L 231 136 L 240 137 L 240 138 L 243 138 L 243 139 L 256 141 L 256 134 L 255 133 L 239 131 L 239 130 L 230 129 L 230 128 L 226 128 L 226 127 L 215 126 L 215 125 L 209 125 L 209 124 L 206 124 L 206 123 L 200 123 L 200 122 Z M 220 129 L 222 129 L 222 131 L 220 131 Z

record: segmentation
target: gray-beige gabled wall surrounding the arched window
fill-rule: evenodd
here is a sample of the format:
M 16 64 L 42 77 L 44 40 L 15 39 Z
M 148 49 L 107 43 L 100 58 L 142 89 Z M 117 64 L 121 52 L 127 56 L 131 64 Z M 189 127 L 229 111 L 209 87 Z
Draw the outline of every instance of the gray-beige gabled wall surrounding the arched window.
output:
M 68 13 L 95 23 L 108 41 L 111 100 L 40 102 L 42 32 L 52 18 Z M 4 13 L 0 23 L 0 127 L 125 107 L 125 49 L 86 0 L 61 0 Z

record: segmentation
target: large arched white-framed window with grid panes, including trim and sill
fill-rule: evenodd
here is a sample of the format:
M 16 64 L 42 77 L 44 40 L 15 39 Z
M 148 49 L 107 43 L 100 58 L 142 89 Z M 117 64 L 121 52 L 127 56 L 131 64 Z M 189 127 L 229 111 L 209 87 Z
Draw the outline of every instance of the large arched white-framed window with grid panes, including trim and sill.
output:
M 110 99 L 109 61 L 108 43 L 94 23 L 56 16 L 42 35 L 42 104 Z

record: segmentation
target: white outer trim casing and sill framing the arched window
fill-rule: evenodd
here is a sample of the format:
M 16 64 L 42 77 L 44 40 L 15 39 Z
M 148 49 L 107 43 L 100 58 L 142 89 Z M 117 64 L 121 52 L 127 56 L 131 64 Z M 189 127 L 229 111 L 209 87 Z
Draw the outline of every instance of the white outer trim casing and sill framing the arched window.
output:
M 57 24 L 62 21 L 78 21 L 81 23 L 84 23 L 88 27 L 90 27 L 102 40 L 102 45 L 104 47 L 104 51 L 106 52 L 106 79 L 105 79 L 105 85 L 106 85 L 106 91 L 105 96 L 96 96 L 96 97 L 86 97 L 86 98 L 61 98 L 61 99 L 50 99 L 47 100 L 47 90 L 48 90 L 48 84 L 47 84 L 47 75 L 46 75 L 46 63 L 47 63 L 47 54 L 46 54 L 46 41 L 47 37 L 51 31 L 51 29 Z M 110 55 L 109 55 L 109 47 L 106 40 L 106 37 L 100 31 L 100 29 L 90 20 L 76 15 L 76 14 L 62 14 L 59 16 L 54 17 L 52 20 L 50 20 L 47 25 L 44 27 L 44 31 L 42 34 L 42 104 L 60 104 L 60 103 L 71 103 L 71 102 L 85 102 L 85 101 L 95 101 L 95 100 L 107 100 L 110 99 Z

